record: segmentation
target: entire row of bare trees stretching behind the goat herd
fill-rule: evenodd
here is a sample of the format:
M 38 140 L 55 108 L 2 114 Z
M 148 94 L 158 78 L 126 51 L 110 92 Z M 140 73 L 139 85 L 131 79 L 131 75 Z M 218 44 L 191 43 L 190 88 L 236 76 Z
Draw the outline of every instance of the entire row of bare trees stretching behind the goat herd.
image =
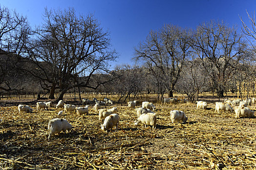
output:
M 0 7 L 0 89 L 21 90 L 26 80 L 51 99 L 58 90 L 58 100 L 73 88 L 116 93 L 119 101 L 150 92 L 158 99 L 165 93 L 173 97 L 174 91 L 192 101 L 202 91 L 223 97 L 237 82 L 255 76 L 255 18 L 248 17 L 251 29 L 241 19 L 245 34 L 223 21 L 195 30 L 166 24 L 134 49 L 134 66 L 110 70 L 118 54 L 93 15 L 46 8 L 43 24 L 32 29 L 25 17 Z

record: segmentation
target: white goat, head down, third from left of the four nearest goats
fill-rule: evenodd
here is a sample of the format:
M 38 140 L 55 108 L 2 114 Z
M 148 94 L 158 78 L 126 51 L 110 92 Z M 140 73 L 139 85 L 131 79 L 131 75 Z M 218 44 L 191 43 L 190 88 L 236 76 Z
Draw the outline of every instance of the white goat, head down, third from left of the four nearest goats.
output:
M 134 124 L 138 126 L 140 122 L 144 124 L 145 127 L 150 125 L 152 128 L 156 128 L 156 113 L 144 113 L 134 121 Z

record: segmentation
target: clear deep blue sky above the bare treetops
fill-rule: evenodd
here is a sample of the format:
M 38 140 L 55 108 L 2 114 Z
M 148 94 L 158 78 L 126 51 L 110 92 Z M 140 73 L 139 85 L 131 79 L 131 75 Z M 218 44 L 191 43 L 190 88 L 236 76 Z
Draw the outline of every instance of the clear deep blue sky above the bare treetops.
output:
M 130 64 L 133 49 L 150 30 L 164 24 L 195 28 L 211 19 L 225 20 L 230 26 L 248 21 L 246 9 L 256 10 L 256 0 L 1 0 L 1 6 L 27 16 L 31 26 L 42 22 L 44 8 L 74 7 L 78 14 L 93 13 L 110 32 L 111 43 L 120 54 L 115 64 Z

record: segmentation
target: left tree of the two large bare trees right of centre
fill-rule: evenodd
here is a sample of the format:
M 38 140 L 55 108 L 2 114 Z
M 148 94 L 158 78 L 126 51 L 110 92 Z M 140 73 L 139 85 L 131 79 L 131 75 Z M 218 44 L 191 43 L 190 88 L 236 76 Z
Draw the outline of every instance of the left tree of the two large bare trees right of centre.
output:
M 173 97 L 174 86 L 179 78 L 189 45 L 190 31 L 173 25 L 165 25 L 160 31 L 151 31 L 146 40 L 135 48 L 136 62 L 142 61 L 149 68 L 161 87 Z

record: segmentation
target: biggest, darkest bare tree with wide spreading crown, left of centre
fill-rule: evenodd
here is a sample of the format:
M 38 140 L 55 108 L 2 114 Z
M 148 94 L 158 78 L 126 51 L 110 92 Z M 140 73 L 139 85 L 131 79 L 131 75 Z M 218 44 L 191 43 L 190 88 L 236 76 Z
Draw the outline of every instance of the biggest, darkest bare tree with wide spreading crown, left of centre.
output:
M 28 71 L 43 82 L 51 95 L 59 88 L 58 100 L 61 100 L 74 86 L 75 74 L 86 77 L 76 86 L 90 87 L 92 75 L 108 71 L 109 61 L 114 61 L 117 54 L 110 48 L 109 34 L 93 15 L 77 17 L 75 10 L 69 8 L 45 9 L 43 17 L 43 25 L 36 29 L 32 37 L 36 38 L 27 48 L 29 62 L 37 65 L 40 73 Z

